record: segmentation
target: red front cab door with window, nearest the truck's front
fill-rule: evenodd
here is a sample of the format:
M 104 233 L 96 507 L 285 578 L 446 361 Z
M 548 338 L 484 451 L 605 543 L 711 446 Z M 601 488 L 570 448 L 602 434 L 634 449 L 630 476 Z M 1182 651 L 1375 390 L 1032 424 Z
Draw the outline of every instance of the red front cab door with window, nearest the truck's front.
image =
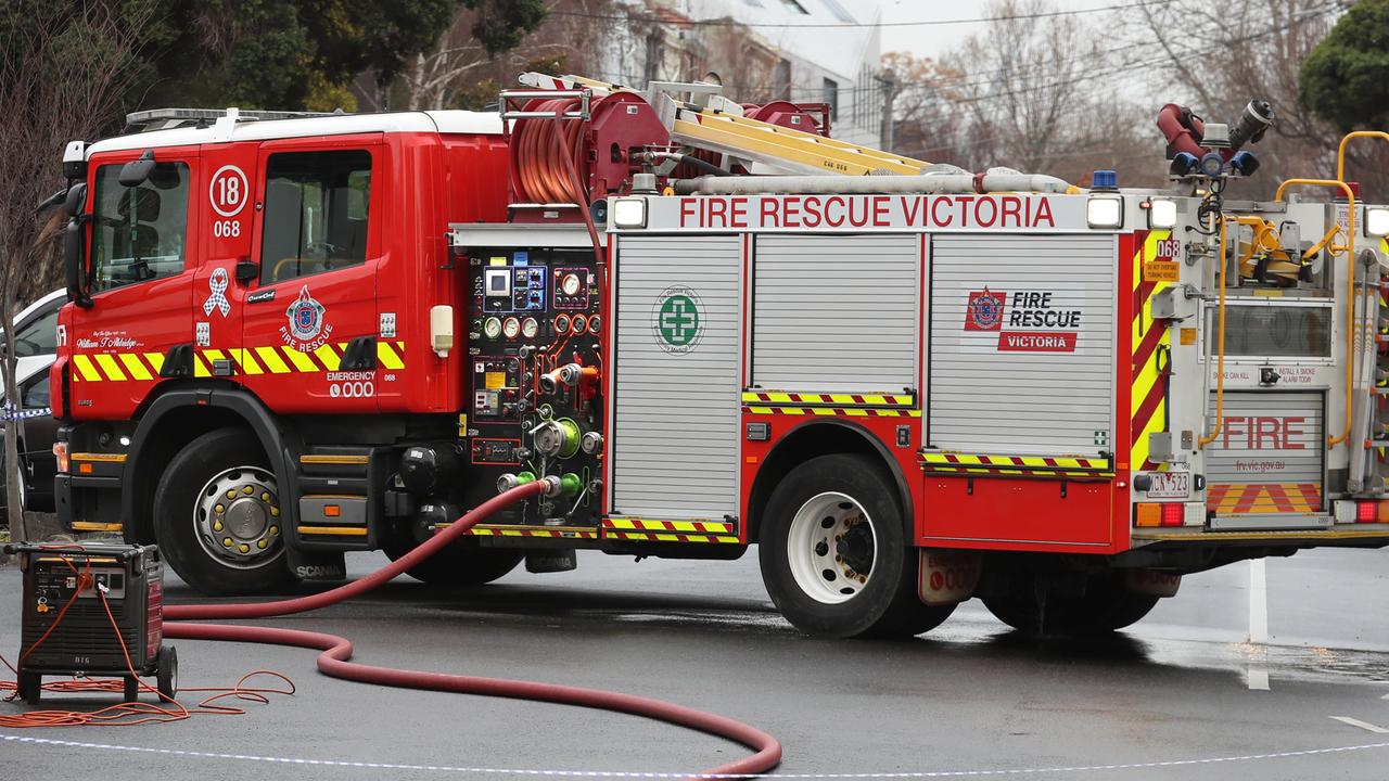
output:
M 129 418 L 161 379 L 171 354 L 193 342 L 193 268 L 201 221 L 197 147 L 157 149 L 150 176 L 121 185 L 121 167 L 144 150 L 93 156 L 89 211 L 92 307 L 72 307 L 71 413 Z

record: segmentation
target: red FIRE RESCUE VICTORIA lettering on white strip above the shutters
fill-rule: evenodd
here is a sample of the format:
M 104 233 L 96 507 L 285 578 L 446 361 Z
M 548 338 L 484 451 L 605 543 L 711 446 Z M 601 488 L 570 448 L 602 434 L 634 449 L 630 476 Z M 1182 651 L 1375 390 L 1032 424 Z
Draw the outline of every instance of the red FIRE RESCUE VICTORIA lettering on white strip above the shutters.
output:
M 681 199 L 681 228 L 1056 228 L 1047 197 L 904 195 Z

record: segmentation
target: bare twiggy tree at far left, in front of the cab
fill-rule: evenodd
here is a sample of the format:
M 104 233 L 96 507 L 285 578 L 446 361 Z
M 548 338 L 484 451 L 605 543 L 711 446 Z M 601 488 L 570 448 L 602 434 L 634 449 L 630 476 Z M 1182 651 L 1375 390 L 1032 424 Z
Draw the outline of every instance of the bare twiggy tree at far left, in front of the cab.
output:
M 38 204 L 60 190 L 65 142 L 89 139 L 119 115 L 124 76 L 135 64 L 139 31 L 151 6 L 26 4 L 0 21 L 0 324 L 4 325 L 4 396 L 17 406 L 14 334 L 18 293 L 51 256 L 42 240 L 51 215 Z M 22 19 L 17 24 L 14 19 Z M 4 425 L 6 503 L 10 528 L 26 536 L 19 506 L 15 425 Z

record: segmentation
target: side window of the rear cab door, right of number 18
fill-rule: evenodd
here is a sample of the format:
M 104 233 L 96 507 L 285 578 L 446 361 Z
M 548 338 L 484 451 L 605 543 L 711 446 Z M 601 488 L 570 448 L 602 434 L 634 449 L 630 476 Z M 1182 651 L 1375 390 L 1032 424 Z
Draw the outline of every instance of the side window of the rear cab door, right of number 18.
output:
M 290 151 L 265 165 L 261 283 L 367 260 L 371 153 Z

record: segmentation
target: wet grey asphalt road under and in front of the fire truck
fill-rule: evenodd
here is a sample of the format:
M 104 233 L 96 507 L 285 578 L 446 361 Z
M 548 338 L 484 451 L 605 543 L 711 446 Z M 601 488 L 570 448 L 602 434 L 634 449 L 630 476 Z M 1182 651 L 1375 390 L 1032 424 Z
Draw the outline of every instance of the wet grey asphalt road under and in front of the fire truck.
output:
M 349 568 L 382 563 L 353 556 Z M 401 578 L 272 621 L 346 635 L 367 663 L 613 688 L 742 718 L 782 741 L 789 777 L 1385 778 L 1389 552 L 1314 550 L 1263 570 L 1188 577 L 1103 641 L 1025 638 L 976 600 L 908 642 L 810 639 L 774 610 L 756 550 L 726 563 L 581 553 L 574 573 L 518 570 L 471 591 Z M 196 598 L 174 578 L 167 591 Z M 0 655 L 11 661 L 18 614 L 19 573 L 0 567 Z M 299 691 L 243 716 L 0 728 L 0 778 L 681 774 L 743 750 L 628 716 L 336 681 L 315 673 L 310 650 L 176 645 L 185 688 L 272 668 Z M 49 695 L 44 707 L 114 700 Z

